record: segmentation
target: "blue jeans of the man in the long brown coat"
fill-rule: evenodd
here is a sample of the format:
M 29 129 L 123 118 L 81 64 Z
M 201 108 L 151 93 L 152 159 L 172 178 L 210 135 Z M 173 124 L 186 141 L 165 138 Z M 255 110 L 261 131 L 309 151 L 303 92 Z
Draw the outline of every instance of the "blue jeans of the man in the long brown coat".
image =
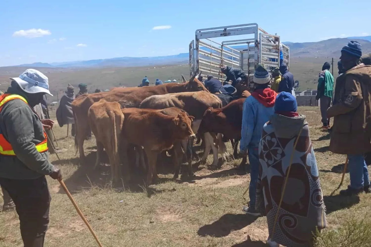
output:
M 368 169 L 363 155 L 348 155 L 348 169 L 350 186 L 353 189 L 361 189 L 370 185 Z

